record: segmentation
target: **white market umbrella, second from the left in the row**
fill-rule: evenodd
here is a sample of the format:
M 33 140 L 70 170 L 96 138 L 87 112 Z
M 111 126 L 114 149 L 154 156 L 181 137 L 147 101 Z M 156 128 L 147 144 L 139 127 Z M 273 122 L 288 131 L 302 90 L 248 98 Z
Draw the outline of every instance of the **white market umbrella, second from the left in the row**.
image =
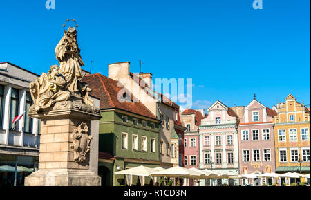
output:
M 150 176 L 158 177 L 177 177 L 177 178 L 194 178 L 200 176 L 201 173 L 195 172 L 194 170 L 189 170 L 184 167 L 171 167 L 169 169 L 161 170 L 158 172 L 153 172 Z

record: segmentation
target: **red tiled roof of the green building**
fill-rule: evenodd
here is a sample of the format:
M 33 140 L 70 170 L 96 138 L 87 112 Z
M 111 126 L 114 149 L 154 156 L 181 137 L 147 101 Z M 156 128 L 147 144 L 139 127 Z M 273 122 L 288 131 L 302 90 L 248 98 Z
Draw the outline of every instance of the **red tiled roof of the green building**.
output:
M 151 111 L 149 111 L 149 109 L 147 109 L 147 107 L 145 107 L 140 101 L 119 102 L 117 96 L 119 91 L 124 89 L 124 87 L 118 87 L 116 80 L 101 75 L 100 73 L 95 73 L 85 75 L 84 78 L 82 78 L 82 82 L 86 82 L 88 87 L 93 89 L 90 95 L 100 99 L 100 109 L 117 108 L 156 119 L 156 116 L 154 116 L 153 113 L 151 113 Z M 133 95 L 129 91 L 126 91 L 126 93 L 131 95 L 133 100 Z

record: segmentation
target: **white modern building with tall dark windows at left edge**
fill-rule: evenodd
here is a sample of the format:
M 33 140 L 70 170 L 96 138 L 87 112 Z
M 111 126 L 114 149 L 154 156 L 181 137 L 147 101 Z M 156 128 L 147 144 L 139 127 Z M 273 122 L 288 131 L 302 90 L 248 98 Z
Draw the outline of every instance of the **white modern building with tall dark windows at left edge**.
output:
M 37 77 L 10 62 L 0 63 L 0 186 L 23 185 L 23 178 L 37 166 L 39 120 L 28 116 L 29 84 Z M 12 120 L 23 111 L 24 116 L 13 125 Z

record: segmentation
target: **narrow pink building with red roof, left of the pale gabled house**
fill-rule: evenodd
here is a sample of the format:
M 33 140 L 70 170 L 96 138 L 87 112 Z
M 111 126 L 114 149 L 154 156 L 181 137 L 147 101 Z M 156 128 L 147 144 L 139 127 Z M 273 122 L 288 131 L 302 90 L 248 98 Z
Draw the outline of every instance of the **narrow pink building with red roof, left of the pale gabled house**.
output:
M 187 129 L 184 133 L 184 167 L 199 168 L 199 140 L 198 126 L 201 124 L 204 112 L 193 109 L 185 109 L 182 112 L 182 120 Z

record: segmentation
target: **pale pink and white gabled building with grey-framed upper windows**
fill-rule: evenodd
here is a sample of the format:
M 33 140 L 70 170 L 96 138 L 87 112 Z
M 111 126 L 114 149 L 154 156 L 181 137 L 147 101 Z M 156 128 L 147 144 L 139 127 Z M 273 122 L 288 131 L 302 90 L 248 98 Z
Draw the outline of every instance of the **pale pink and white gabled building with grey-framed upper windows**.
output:
M 200 169 L 238 172 L 238 116 L 217 100 L 207 109 L 209 115 L 199 127 Z M 217 184 L 238 185 L 238 179 L 219 179 Z

